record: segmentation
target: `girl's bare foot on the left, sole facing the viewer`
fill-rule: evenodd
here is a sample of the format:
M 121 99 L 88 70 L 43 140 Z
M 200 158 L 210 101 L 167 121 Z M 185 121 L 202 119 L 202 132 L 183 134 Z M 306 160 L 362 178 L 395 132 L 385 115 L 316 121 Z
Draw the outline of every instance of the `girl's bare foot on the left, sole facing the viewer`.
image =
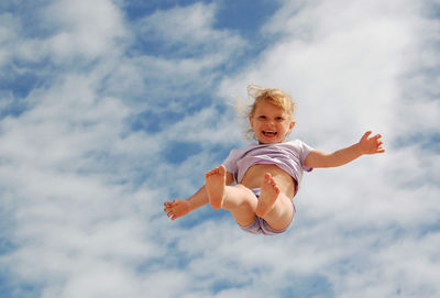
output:
M 206 189 L 212 209 L 223 206 L 227 169 L 223 165 L 215 167 L 205 174 Z

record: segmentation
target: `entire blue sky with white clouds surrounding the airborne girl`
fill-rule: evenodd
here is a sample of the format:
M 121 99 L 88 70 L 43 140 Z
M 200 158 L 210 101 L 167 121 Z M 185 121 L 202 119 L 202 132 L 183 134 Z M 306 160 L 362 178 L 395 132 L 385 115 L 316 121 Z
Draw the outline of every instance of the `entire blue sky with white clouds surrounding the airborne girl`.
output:
M 0 3 L 0 297 L 440 296 L 438 0 Z M 280 88 L 305 174 L 285 234 L 170 221 Z

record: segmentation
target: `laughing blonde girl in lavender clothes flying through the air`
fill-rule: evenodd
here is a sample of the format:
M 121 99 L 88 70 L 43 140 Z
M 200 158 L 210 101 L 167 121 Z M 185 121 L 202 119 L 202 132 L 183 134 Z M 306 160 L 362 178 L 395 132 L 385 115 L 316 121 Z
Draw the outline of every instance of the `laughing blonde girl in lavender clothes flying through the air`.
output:
M 359 143 L 331 154 L 299 140 L 286 142 L 296 123 L 290 97 L 278 89 L 249 87 L 248 92 L 254 98 L 250 132 L 258 144 L 231 151 L 222 165 L 206 173 L 205 186 L 187 200 L 165 202 L 164 211 L 172 220 L 209 202 L 213 209 L 230 211 L 246 232 L 279 234 L 294 219 L 293 199 L 304 170 L 341 166 L 364 154 L 385 152 L 381 134 L 371 137 L 371 131 Z

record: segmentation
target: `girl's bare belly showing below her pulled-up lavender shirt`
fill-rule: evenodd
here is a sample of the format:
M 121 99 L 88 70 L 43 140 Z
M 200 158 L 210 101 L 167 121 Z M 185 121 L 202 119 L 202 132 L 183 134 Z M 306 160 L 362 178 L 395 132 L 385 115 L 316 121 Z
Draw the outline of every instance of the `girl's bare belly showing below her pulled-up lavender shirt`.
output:
M 282 189 L 282 192 L 287 197 L 293 198 L 295 195 L 295 180 L 284 169 L 276 165 L 253 165 L 251 166 L 241 181 L 248 188 L 260 188 L 264 175 L 271 173 L 276 184 Z

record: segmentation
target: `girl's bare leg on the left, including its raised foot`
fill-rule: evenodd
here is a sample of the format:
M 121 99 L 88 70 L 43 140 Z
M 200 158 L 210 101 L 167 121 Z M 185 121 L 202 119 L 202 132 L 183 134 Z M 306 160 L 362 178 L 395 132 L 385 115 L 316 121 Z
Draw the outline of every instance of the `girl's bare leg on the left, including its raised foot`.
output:
M 213 209 L 230 211 L 240 225 L 249 225 L 255 220 L 257 199 L 243 185 L 227 186 L 226 174 L 223 165 L 205 174 L 209 202 Z

